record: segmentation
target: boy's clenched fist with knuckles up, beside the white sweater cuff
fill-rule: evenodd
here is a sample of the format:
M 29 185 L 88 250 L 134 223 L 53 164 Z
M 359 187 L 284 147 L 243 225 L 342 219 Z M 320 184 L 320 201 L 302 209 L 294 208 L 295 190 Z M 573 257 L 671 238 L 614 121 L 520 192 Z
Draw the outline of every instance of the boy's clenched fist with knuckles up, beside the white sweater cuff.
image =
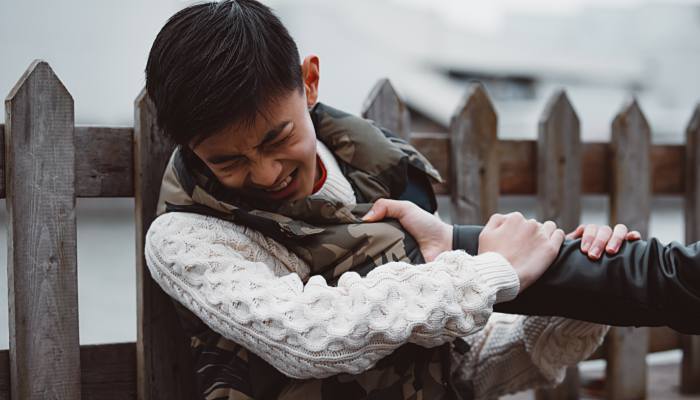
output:
M 479 254 L 505 257 L 520 278 L 522 292 L 547 270 L 564 242 L 564 231 L 552 221 L 540 224 L 519 212 L 494 214 L 479 235 Z

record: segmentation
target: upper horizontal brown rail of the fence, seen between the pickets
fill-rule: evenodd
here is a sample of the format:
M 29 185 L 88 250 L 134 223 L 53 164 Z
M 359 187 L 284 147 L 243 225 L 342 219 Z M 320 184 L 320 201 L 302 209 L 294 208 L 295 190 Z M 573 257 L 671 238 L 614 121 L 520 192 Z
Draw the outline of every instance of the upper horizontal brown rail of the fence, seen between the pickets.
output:
M 78 197 L 133 197 L 133 128 L 77 126 L 76 195 Z M 0 124 L 0 141 L 5 140 L 5 126 Z M 445 182 L 449 182 L 450 137 L 445 132 L 411 133 L 411 143 L 433 163 Z M 0 143 L 2 143 L 0 142 Z M 498 140 L 499 192 L 511 195 L 537 193 L 537 141 Z M 583 194 L 610 192 L 609 143 L 583 142 L 581 171 Z M 652 193 L 685 193 L 685 145 L 651 146 Z M 4 175 L 5 156 L 0 153 L 0 173 Z M 437 184 L 438 194 L 449 194 L 449 183 Z M 5 198 L 5 182 L 0 181 L 0 198 Z

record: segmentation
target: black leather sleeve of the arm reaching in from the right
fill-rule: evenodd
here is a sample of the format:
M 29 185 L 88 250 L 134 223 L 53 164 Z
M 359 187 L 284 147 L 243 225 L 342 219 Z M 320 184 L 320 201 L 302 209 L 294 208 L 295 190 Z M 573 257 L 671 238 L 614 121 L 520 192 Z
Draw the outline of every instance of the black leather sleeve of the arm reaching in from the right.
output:
M 455 225 L 453 247 L 478 252 L 481 227 Z M 471 250 L 471 251 L 470 251 Z M 700 242 L 625 242 L 592 261 L 567 240 L 542 277 L 495 311 L 700 333 Z

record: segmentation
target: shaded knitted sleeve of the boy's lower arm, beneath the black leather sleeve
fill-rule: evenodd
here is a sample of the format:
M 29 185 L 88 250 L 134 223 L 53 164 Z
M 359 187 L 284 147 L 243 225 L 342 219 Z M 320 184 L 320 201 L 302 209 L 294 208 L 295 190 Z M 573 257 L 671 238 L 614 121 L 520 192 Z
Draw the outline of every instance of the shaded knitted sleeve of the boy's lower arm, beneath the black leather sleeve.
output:
M 476 399 L 552 386 L 564 379 L 566 367 L 588 358 L 607 331 L 560 317 L 494 313 L 483 330 L 464 338 L 469 352 L 453 353 L 453 382 Z

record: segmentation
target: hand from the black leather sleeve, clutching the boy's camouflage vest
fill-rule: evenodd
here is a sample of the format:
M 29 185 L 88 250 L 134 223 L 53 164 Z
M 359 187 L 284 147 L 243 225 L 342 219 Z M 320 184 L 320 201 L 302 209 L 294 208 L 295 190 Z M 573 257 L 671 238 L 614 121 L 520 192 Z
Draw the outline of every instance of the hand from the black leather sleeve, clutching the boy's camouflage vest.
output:
M 362 220 L 377 222 L 384 218 L 399 220 L 418 242 L 425 261 L 433 261 L 440 253 L 452 250 L 452 225 L 410 201 L 379 199 Z

